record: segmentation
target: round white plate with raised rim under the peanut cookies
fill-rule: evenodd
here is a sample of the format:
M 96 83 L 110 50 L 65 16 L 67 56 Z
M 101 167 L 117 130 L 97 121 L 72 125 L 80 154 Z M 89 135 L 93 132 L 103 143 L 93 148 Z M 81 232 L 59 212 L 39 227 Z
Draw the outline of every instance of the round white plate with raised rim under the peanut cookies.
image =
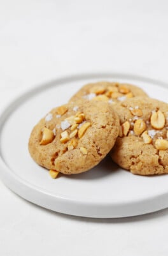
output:
M 167 85 L 116 73 L 64 77 L 17 96 L 1 113 L 0 174 L 13 192 L 39 206 L 69 215 L 116 218 L 168 206 L 168 175 L 143 177 L 120 169 L 106 157 L 83 174 L 52 179 L 29 155 L 32 127 L 53 107 L 66 103 L 84 84 L 97 80 L 129 82 L 167 101 Z

